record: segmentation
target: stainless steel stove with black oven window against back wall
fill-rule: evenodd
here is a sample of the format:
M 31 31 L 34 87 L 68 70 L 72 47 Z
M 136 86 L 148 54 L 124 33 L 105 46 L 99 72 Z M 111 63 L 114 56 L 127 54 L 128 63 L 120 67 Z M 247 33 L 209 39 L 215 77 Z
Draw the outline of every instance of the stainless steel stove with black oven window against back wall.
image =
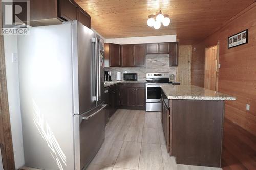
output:
M 162 84 L 170 84 L 169 73 L 146 74 L 146 111 L 161 111 L 161 88 Z

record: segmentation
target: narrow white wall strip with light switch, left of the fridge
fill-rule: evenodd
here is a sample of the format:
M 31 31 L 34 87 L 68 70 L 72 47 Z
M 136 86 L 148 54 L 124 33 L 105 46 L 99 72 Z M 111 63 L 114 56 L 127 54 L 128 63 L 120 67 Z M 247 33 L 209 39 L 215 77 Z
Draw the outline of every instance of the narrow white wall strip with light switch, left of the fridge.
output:
M 16 169 L 19 169 L 24 165 L 22 118 L 19 101 L 18 63 L 12 62 L 12 53 L 17 53 L 17 36 L 4 36 L 4 44 L 14 161 Z

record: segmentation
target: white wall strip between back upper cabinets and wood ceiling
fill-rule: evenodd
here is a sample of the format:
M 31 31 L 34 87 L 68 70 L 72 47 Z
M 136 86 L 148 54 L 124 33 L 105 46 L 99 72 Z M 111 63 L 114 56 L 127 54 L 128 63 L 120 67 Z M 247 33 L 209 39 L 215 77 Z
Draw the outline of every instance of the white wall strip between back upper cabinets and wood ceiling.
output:
M 160 42 L 176 42 L 176 35 L 161 35 L 150 37 L 127 37 L 127 38 L 109 38 L 105 43 L 114 44 L 146 44 L 146 43 L 160 43 Z

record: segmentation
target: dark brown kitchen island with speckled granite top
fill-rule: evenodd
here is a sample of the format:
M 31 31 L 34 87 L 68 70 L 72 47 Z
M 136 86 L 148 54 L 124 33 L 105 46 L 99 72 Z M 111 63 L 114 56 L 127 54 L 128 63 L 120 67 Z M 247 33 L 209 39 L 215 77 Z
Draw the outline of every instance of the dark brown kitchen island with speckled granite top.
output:
M 225 100 L 236 98 L 193 85 L 161 86 L 161 122 L 176 163 L 221 167 Z

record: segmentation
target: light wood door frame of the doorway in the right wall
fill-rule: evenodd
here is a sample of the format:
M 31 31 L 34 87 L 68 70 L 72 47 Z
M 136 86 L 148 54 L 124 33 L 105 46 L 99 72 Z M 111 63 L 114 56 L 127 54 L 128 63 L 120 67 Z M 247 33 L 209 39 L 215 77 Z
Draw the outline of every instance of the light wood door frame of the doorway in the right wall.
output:
M 204 50 L 204 61 L 206 58 L 206 50 L 212 47 L 217 46 L 217 63 L 216 63 L 216 80 L 215 80 L 215 91 L 218 91 L 218 83 L 219 83 L 219 58 L 220 58 L 220 40 L 218 40 L 217 45 L 211 45 L 208 47 L 205 47 Z M 204 62 L 204 87 L 205 87 L 205 62 Z

